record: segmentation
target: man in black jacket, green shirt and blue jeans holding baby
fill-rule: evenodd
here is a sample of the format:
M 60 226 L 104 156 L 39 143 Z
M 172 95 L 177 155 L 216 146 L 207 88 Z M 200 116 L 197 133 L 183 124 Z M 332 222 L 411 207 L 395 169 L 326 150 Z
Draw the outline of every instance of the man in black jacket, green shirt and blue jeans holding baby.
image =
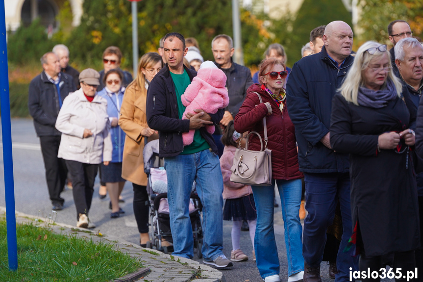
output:
M 223 179 L 217 148 L 204 128 L 222 119 L 223 109 L 183 117 L 181 95 L 197 73 L 183 65 L 188 49 L 184 37 L 176 32 L 165 36 L 166 66 L 154 77 L 147 92 L 147 123 L 159 131 L 159 155 L 165 159 L 168 201 L 174 256 L 193 258 L 193 233 L 189 198 L 194 180 L 203 205 L 203 262 L 218 268 L 232 266 L 223 250 Z M 185 146 L 182 133 L 195 129 L 194 141 Z

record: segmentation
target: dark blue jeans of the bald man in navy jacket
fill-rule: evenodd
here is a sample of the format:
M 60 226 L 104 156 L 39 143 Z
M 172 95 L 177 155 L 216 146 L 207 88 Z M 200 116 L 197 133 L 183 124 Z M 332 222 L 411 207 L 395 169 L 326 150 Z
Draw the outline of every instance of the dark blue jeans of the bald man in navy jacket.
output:
M 339 245 L 335 281 L 349 281 L 349 268 L 358 270 L 358 256 L 344 252 L 352 234 L 350 180 L 348 173 L 304 173 L 307 217 L 304 219 L 303 256 L 310 267 L 322 262 L 326 229 L 333 223 L 339 199 L 342 214 L 342 238 Z

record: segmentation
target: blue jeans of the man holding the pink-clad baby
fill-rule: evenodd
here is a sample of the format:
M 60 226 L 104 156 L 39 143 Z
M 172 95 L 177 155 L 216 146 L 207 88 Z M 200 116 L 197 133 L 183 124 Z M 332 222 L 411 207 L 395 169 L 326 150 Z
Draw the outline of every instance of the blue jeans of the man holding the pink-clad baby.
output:
M 189 199 L 194 180 L 203 205 L 203 246 L 205 260 L 223 255 L 223 178 L 219 157 L 204 150 L 195 154 L 165 157 L 168 201 L 174 256 L 193 258 L 194 240 L 189 215 Z

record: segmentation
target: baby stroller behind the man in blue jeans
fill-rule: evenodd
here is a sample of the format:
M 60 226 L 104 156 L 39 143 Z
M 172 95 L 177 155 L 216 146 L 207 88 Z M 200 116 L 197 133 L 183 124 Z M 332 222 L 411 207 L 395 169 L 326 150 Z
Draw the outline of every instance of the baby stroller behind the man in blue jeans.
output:
M 150 199 L 151 242 L 147 243 L 147 248 L 167 254 L 169 248 L 162 246 L 162 238 L 170 243 L 173 243 L 173 239 L 167 201 L 167 176 L 163 167 L 164 159 L 159 157 L 159 140 L 148 142 L 144 147 L 143 156 L 144 171 L 149 179 L 147 193 Z M 194 248 L 199 258 L 201 258 L 203 233 L 200 212 L 202 211 L 202 205 L 199 196 L 194 193 L 194 190 L 195 185 L 193 184 L 189 211 L 194 236 Z

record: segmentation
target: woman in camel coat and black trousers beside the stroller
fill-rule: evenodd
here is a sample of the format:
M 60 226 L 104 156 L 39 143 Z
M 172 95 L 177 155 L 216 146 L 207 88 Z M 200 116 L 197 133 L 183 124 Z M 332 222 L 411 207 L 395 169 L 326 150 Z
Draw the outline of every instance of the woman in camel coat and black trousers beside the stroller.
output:
M 146 99 L 151 79 L 162 69 L 162 57 L 149 52 L 138 64 L 138 73 L 127 87 L 121 106 L 119 126 L 126 133 L 122 164 L 122 178 L 132 182 L 134 215 L 140 232 L 140 245 L 149 241 L 149 196 L 147 175 L 144 172 L 144 137 L 157 139 L 157 133 L 147 125 Z

